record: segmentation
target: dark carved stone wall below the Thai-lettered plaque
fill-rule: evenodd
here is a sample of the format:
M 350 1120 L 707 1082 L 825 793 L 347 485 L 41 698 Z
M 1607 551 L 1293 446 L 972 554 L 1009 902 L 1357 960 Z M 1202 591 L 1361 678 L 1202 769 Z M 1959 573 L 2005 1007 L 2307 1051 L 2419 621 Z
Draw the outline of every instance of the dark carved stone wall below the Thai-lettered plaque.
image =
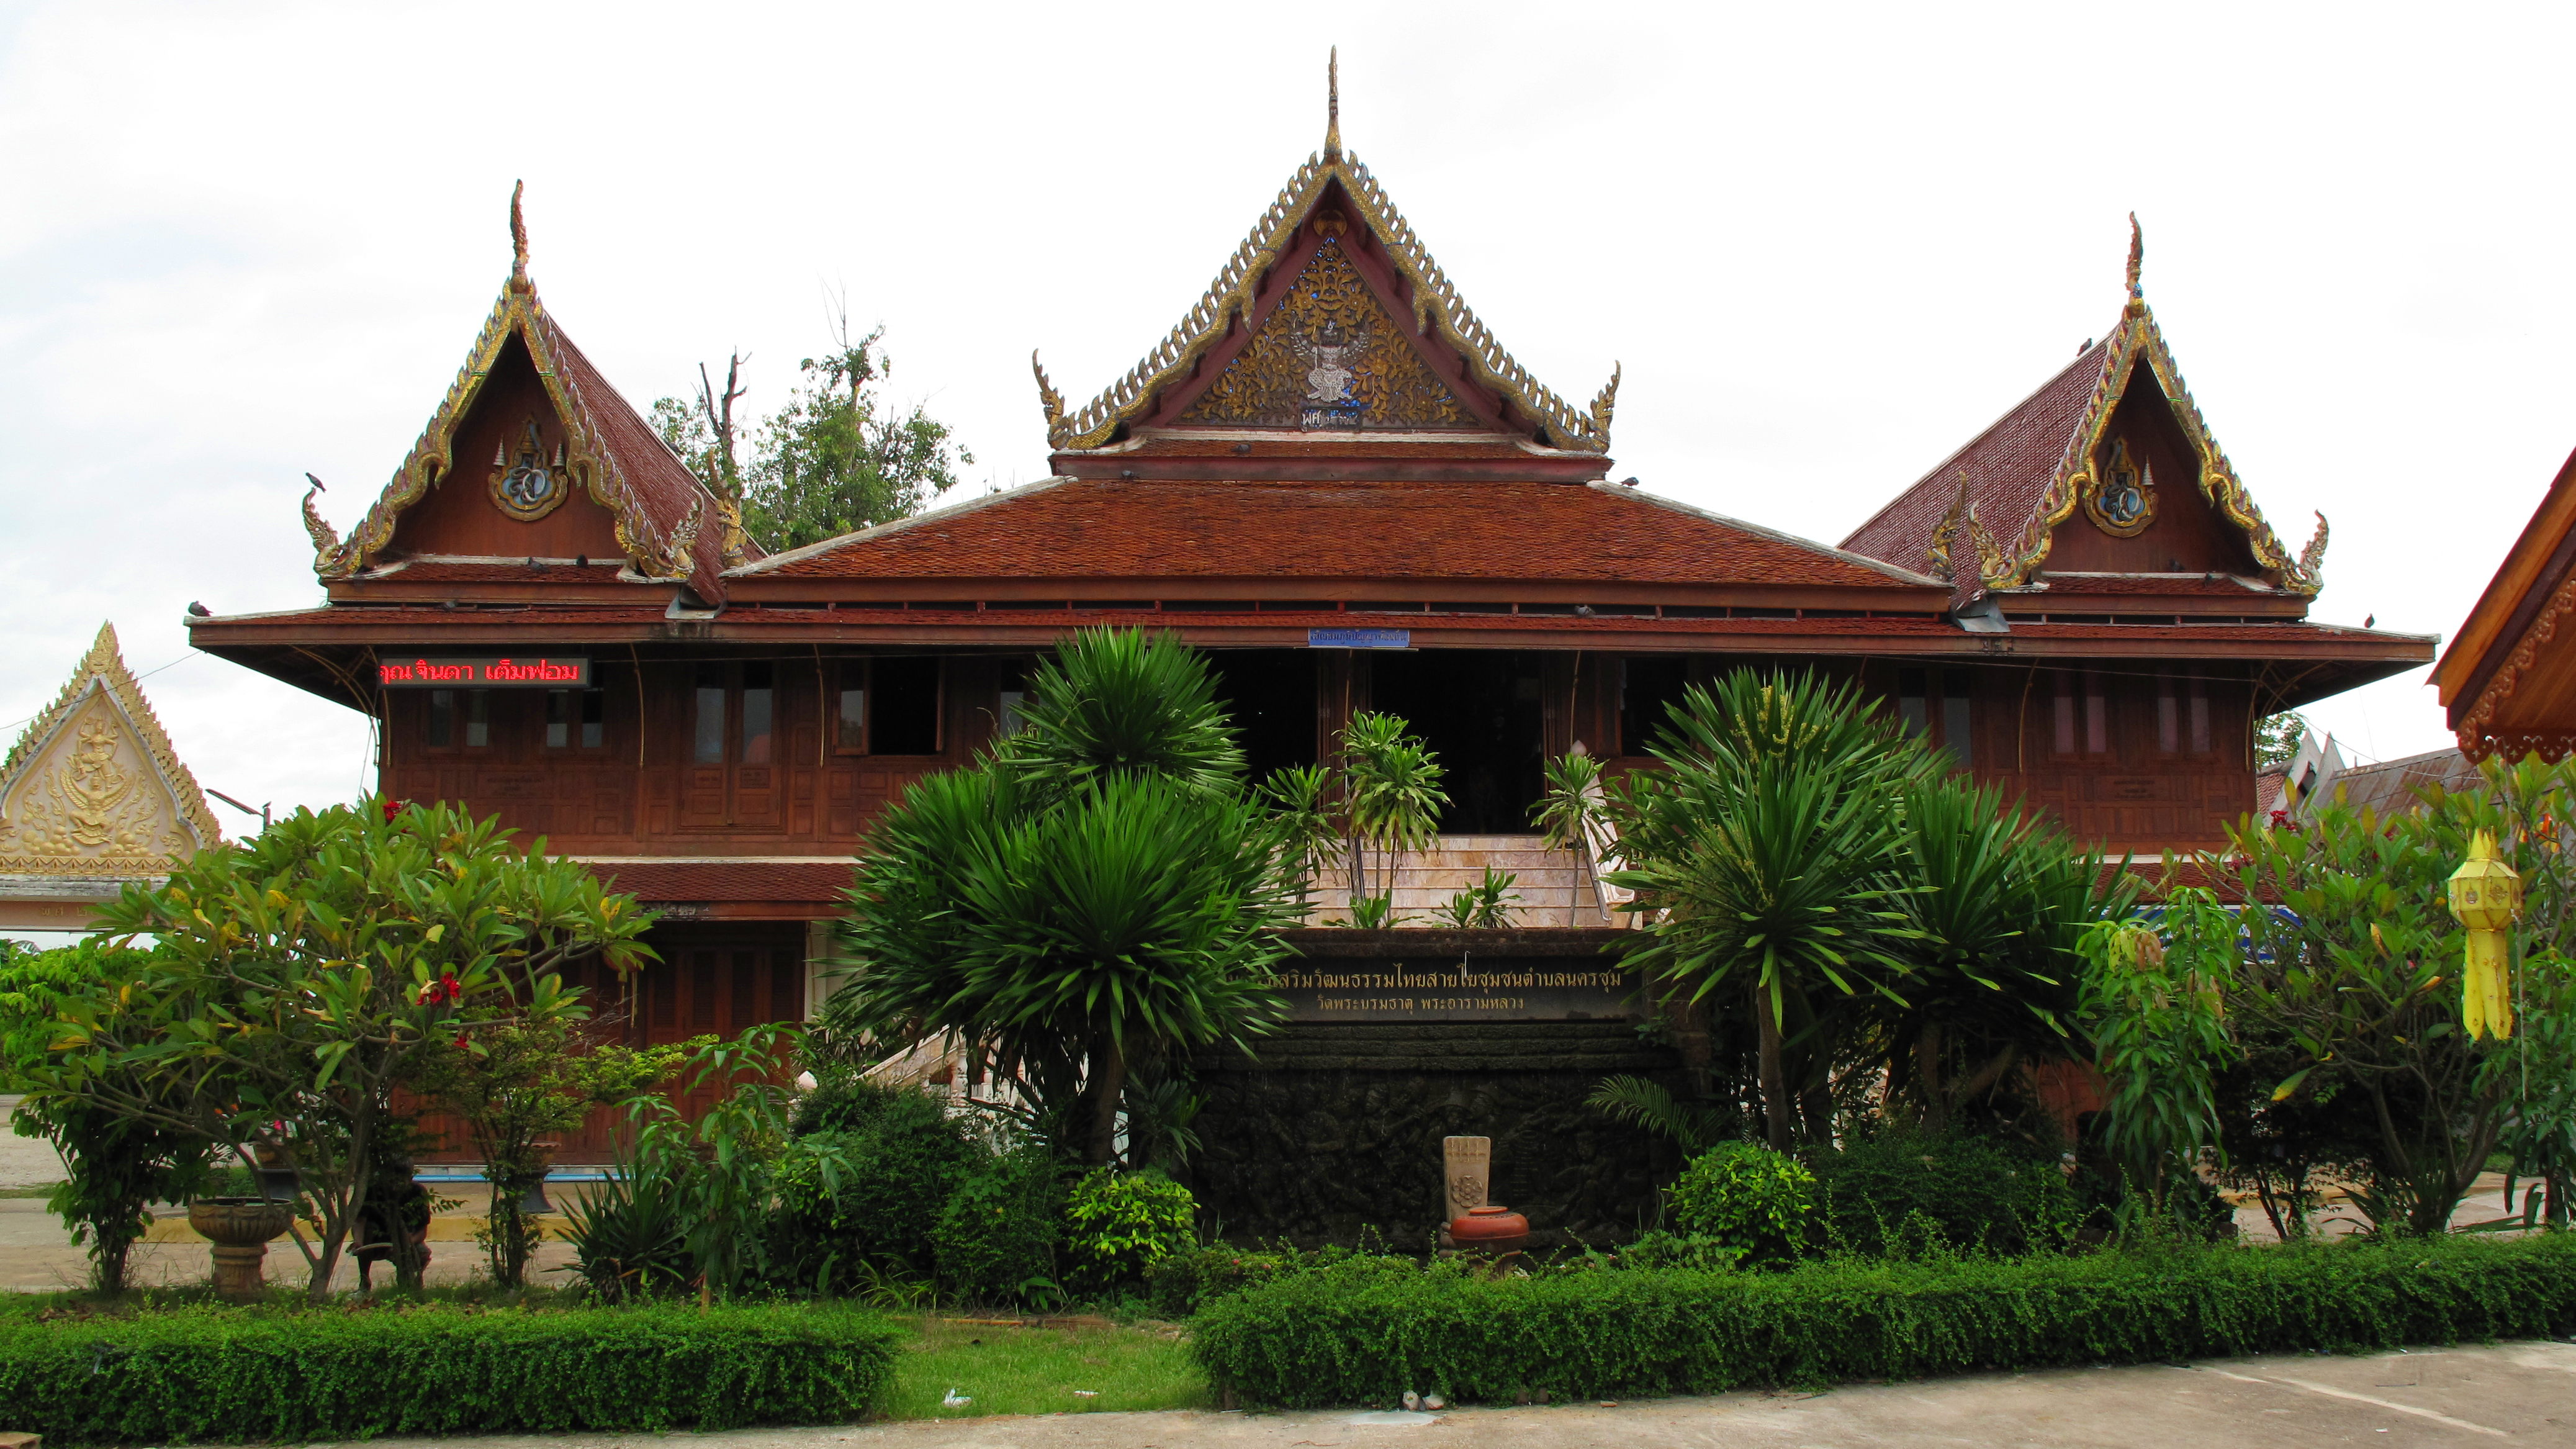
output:
M 1291 1024 L 1260 1060 L 1195 1060 L 1200 1150 L 1185 1181 L 1234 1243 L 1422 1250 L 1445 1227 L 1440 1140 L 1494 1140 L 1492 1201 L 1538 1243 L 1654 1225 L 1669 1142 L 1584 1106 L 1615 1073 L 1680 1091 L 1680 1057 L 1633 1021 Z

